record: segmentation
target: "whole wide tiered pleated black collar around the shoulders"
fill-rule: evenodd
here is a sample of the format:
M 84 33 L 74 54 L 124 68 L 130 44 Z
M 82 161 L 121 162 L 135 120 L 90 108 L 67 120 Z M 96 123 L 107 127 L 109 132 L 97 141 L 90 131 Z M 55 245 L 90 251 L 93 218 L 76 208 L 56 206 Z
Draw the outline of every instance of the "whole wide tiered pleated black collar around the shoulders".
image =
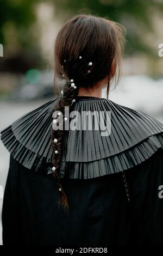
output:
M 59 97 L 46 102 L 1 131 L 2 142 L 14 159 L 36 172 L 53 172 L 51 129 L 58 100 Z M 60 178 L 91 179 L 118 173 L 142 163 L 163 148 L 163 124 L 146 113 L 104 98 L 84 96 L 77 97 L 73 110 L 70 121 L 77 129 L 65 131 Z M 87 120 L 93 129 L 88 130 L 87 126 L 83 130 L 86 115 L 82 113 L 87 112 L 99 118 L 110 114 L 107 136 L 102 136 L 101 127 L 95 129 L 95 119 L 90 117 Z M 79 119 L 76 113 L 80 113 Z

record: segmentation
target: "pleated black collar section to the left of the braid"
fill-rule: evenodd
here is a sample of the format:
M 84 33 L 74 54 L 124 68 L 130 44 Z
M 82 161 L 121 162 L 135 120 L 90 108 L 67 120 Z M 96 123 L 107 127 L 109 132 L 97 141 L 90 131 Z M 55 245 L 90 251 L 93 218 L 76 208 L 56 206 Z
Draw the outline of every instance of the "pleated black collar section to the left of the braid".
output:
M 51 127 L 58 97 L 22 115 L 1 131 L 1 140 L 24 167 L 47 173 L 51 169 Z

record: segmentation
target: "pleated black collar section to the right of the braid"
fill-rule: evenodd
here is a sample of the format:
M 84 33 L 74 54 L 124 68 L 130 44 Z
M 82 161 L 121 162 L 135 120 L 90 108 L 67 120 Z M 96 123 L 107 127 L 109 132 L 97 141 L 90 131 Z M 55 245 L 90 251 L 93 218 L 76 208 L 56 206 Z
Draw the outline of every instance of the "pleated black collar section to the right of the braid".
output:
M 163 124 L 146 113 L 98 98 L 79 100 L 74 110 L 109 111 L 111 132 L 101 136 L 100 129 L 68 131 L 61 177 L 90 179 L 122 172 L 146 161 L 163 147 Z

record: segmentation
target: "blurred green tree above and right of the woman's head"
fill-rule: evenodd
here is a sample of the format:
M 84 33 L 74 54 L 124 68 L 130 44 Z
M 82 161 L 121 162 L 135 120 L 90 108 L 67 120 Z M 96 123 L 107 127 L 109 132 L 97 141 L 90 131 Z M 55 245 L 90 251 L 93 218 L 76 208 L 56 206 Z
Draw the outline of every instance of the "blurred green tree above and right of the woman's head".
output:
M 55 6 L 67 13 L 95 14 L 122 23 L 127 28 L 126 53 L 143 52 L 155 56 L 145 34 L 153 32 L 153 13 L 163 10 L 162 0 L 55 0 Z

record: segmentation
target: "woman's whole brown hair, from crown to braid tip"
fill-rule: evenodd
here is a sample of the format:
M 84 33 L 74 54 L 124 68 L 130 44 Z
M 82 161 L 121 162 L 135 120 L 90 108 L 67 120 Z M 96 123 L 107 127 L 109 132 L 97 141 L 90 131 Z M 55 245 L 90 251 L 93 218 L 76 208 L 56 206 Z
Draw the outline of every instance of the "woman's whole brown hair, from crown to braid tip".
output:
M 116 70 L 118 70 L 116 84 L 120 79 L 125 32 L 124 27 L 119 23 L 93 15 L 77 15 L 65 23 L 55 39 L 54 60 L 55 76 L 65 79 L 66 83 L 64 94 L 60 96 L 54 111 L 62 112 L 64 117 L 64 108 L 69 107 L 70 111 L 72 110 L 74 105 L 72 100 L 76 99 L 80 87 L 93 88 L 106 76 L 108 76 L 108 98 L 110 80 L 116 78 Z M 91 66 L 88 65 L 89 62 L 92 62 Z M 76 89 L 71 87 L 72 79 L 77 86 Z M 54 138 L 58 140 L 57 143 L 54 142 Z M 64 129 L 52 129 L 54 178 L 57 179 L 60 187 L 59 203 L 61 202 L 68 210 L 68 199 L 59 179 L 63 138 Z

